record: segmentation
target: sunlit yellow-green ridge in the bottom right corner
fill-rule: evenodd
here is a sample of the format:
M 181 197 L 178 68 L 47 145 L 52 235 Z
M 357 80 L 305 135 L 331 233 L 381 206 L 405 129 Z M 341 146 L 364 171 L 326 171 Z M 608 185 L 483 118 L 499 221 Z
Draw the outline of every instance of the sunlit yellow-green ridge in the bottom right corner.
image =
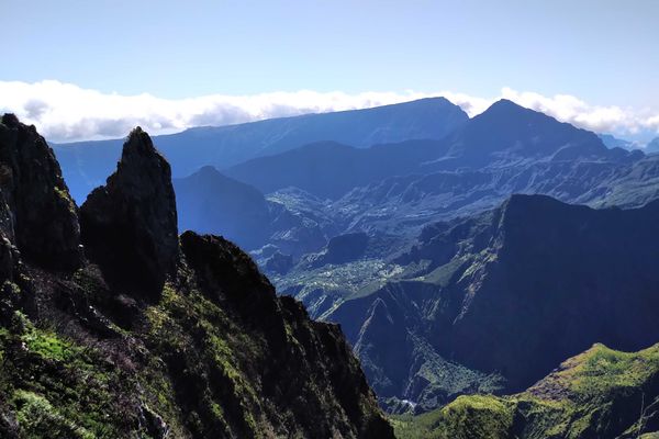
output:
M 658 405 L 659 345 L 638 352 L 594 345 L 523 393 L 462 396 L 394 425 L 400 439 L 649 439 L 659 431 Z

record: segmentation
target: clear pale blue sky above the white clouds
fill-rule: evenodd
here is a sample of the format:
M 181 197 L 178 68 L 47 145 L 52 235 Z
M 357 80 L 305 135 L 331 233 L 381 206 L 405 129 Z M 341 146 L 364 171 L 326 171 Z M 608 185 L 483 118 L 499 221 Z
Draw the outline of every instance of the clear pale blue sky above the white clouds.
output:
M 656 0 L 3 0 L 0 81 L 174 101 L 300 90 L 493 99 L 507 87 L 649 120 L 658 18 Z

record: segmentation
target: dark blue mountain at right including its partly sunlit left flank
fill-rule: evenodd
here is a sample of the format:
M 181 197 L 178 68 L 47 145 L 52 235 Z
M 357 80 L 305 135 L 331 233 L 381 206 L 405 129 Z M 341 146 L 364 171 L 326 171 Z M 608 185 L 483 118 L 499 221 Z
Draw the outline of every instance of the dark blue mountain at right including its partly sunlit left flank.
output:
M 634 350 L 659 339 L 658 219 L 657 202 L 597 211 L 514 195 L 428 226 L 392 261 L 398 279 L 324 318 L 340 323 L 380 397 L 450 401 L 446 375 L 426 373 L 437 361 L 518 391 L 593 342 Z

